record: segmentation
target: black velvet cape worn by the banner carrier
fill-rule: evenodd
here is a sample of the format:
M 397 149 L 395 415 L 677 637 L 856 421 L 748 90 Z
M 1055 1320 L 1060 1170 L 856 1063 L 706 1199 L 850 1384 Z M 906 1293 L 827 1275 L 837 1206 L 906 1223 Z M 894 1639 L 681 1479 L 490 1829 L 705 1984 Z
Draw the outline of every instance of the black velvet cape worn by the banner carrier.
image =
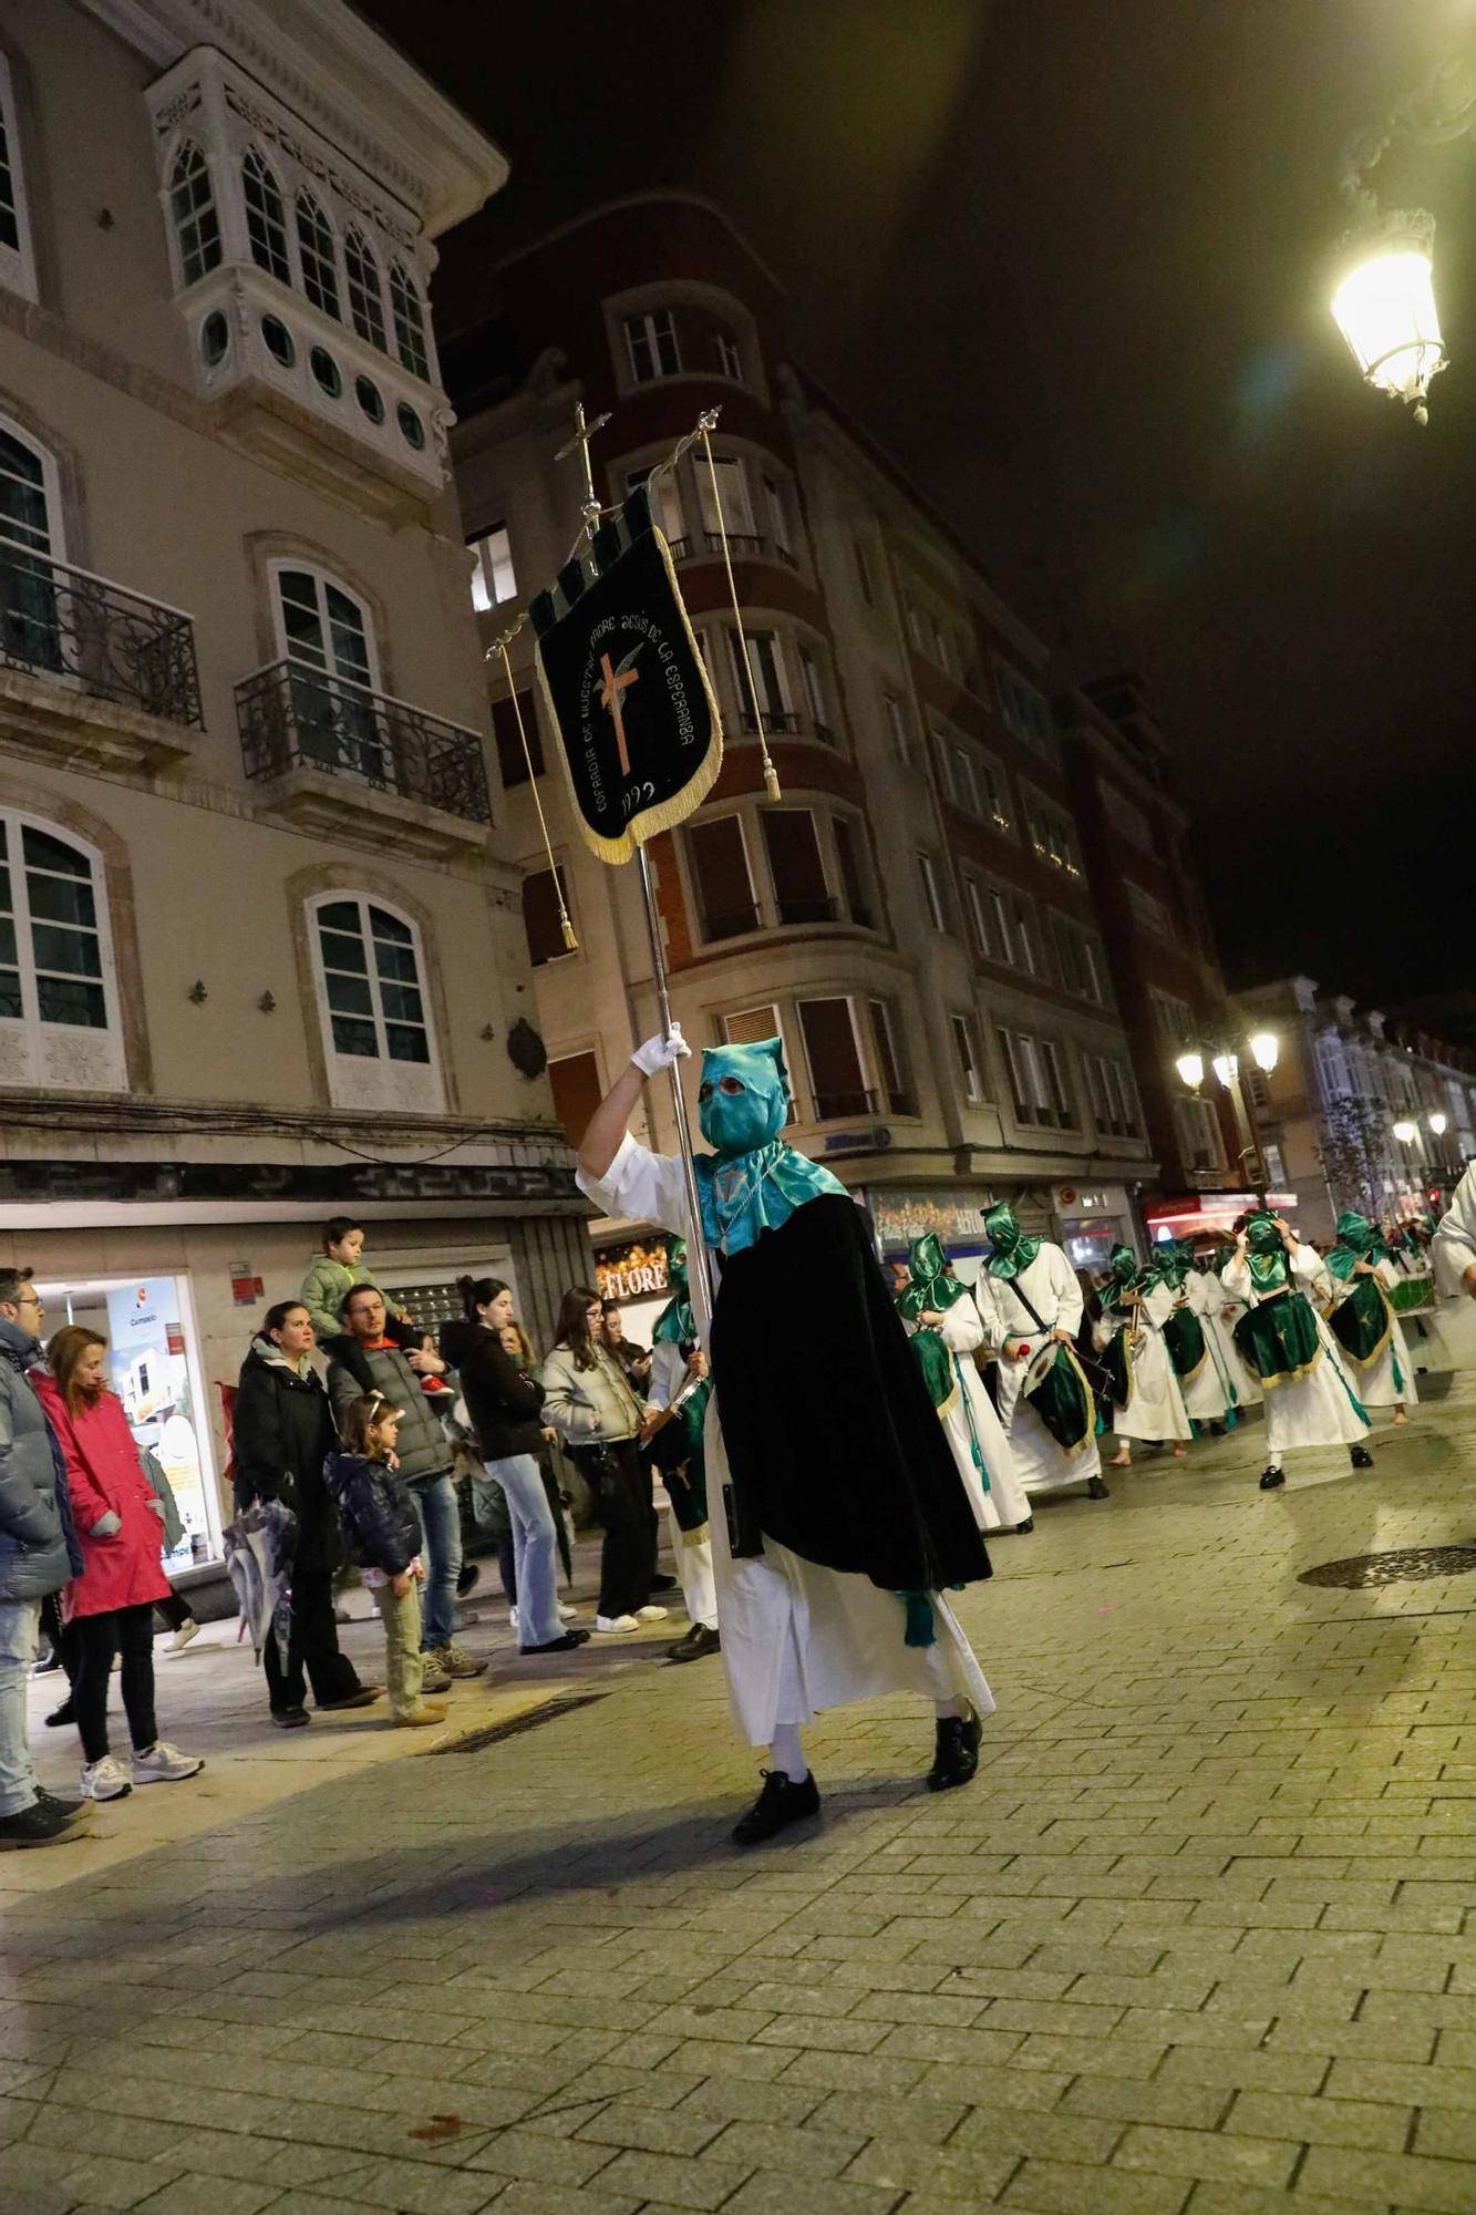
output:
M 711 1373 L 738 1555 L 762 1553 L 767 1533 L 886 1593 L 991 1575 L 853 1201 L 804 1201 L 722 1263 Z

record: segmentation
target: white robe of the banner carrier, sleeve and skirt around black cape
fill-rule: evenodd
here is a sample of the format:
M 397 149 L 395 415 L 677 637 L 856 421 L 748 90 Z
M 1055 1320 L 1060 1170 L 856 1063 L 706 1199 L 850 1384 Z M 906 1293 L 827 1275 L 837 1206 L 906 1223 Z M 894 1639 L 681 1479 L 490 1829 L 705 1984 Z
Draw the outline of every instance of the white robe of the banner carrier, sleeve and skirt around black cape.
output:
M 687 1245 L 700 1236 L 687 1214 L 680 1161 L 652 1154 L 632 1136 L 621 1141 L 598 1183 L 583 1174 L 578 1183 L 609 1216 L 656 1223 Z M 798 1307 L 793 1327 L 804 1329 Z M 831 1378 L 829 1389 L 844 1391 L 844 1378 Z M 816 1409 L 816 1424 L 822 1422 L 824 1409 Z M 734 1721 L 749 1745 L 771 1745 L 778 1723 L 809 1723 L 824 1708 L 889 1692 L 918 1692 L 929 1701 L 968 1699 L 977 1714 L 993 1712 L 993 1692 L 942 1593 L 931 1595 L 937 1641 L 906 1646 L 902 1604 L 869 1577 L 820 1568 L 771 1537 L 765 1537 L 762 1555 L 734 1562 L 722 1511 L 729 1473 L 716 1391 L 707 1402 L 705 1457 L 722 1668 Z

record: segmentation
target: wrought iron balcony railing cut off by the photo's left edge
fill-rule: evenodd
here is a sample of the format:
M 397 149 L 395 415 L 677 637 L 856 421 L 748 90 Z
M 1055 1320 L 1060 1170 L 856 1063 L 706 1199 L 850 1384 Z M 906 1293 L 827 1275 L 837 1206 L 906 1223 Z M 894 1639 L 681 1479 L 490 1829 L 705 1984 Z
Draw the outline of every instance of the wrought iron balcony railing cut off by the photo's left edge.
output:
M 0 545 L 0 662 L 204 729 L 188 616 L 16 545 Z

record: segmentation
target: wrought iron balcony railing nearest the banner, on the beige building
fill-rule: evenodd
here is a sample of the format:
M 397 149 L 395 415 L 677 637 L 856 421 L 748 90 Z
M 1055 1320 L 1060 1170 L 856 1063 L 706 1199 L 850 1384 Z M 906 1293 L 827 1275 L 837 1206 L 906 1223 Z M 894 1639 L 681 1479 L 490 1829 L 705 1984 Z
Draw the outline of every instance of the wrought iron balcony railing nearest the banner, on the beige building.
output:
M 490 824 L 481 740 L 423 707 L 299 662 L 273 662 L 235 687 L 248 777 L 321 769 L 430 808 Z

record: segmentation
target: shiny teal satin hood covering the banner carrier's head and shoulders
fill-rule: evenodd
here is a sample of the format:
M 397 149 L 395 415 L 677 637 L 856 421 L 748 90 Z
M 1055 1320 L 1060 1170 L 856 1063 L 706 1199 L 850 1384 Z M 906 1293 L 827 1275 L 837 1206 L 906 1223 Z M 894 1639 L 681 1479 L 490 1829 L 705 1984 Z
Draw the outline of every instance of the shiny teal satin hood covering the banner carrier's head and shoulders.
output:
M 796 1207 L 847 1187 L 780 1139 L 789 1119 L 789 1074 L 778 1039 L 709 1045 L 703 1052 L 698 1123 L 711 1154 L 696 1156 L 703 1232 L 720 1254 L 740 1254 L 776 1232 Z

